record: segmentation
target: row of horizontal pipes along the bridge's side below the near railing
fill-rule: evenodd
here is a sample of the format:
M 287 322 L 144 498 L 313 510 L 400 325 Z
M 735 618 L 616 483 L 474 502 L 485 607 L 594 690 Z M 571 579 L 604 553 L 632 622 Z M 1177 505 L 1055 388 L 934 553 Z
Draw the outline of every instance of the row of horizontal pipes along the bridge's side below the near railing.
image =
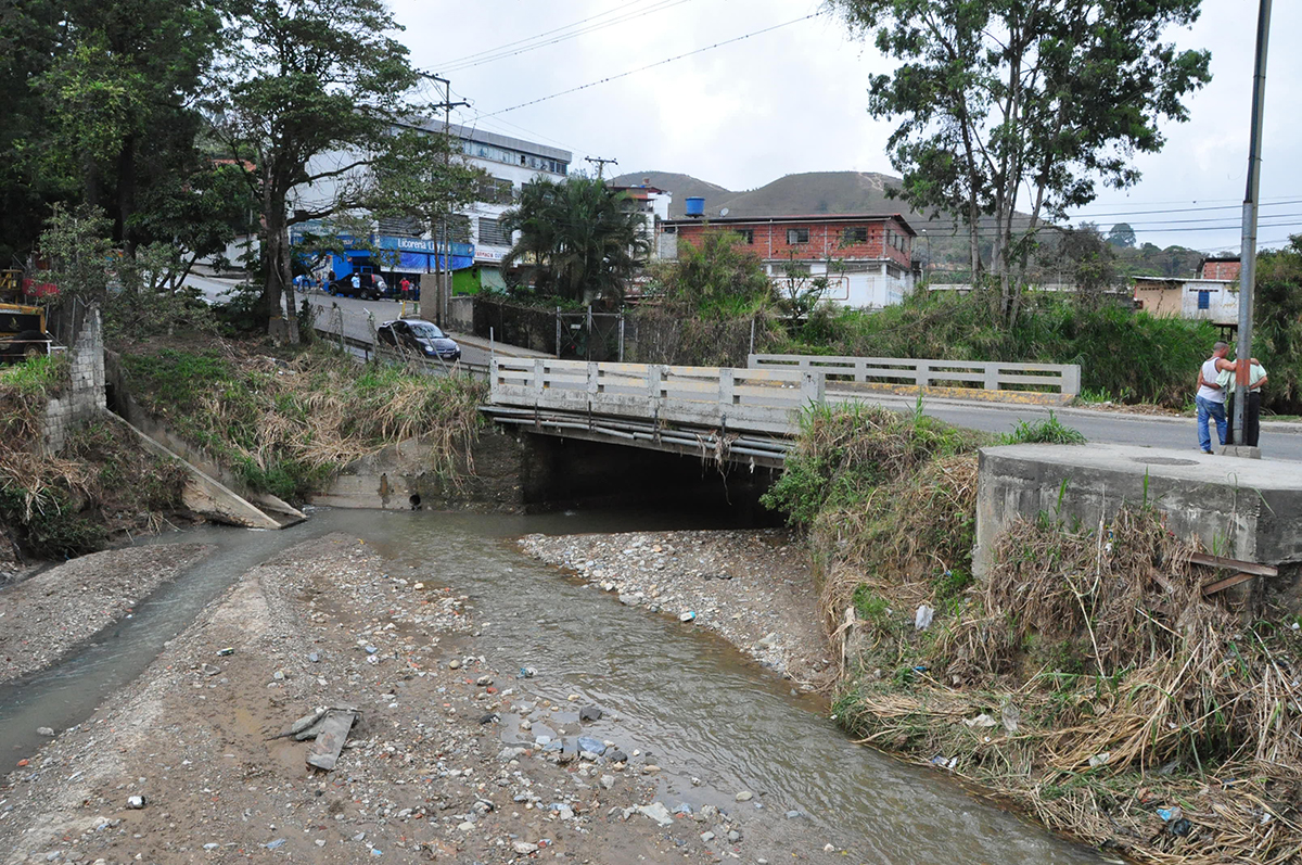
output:
M 698 456 L 706 461 L 780 469 L 792 442 L 755 432 L 728 432 L 690 423 L 639 421 L 625 417 L 484 405 L 480 410 L 497 423 L 540 435 L 583 439 L 605 444 Z

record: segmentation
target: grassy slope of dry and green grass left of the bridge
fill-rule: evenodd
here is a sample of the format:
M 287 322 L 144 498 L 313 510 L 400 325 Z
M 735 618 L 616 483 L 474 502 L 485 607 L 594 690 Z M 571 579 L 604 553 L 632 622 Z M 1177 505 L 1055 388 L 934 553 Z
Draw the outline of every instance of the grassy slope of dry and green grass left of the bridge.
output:
M 293 361 L 238 348 L 122 358 L 133 396 L 250 489 L 299 502 L 335 472 L 387 444 L 421 436 L 437 474 L 453 478 L 479 426 L 484 386 L 398 366 L 359 367 L 316 347 Z

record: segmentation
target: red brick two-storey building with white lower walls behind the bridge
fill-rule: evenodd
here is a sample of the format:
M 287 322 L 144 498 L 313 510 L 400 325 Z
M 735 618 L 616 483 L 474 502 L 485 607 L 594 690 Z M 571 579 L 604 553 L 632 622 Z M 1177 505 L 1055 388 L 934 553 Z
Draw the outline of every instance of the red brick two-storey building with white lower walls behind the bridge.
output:
M 741 234 L 775 283 L 827 276 L 825 300 L 844 306 L 881 309 L 913 292 L 917 232 L 900 214 L 673 219 L 661 225 L 660 255 L 676 258 L 678 244 L 719 231 Z

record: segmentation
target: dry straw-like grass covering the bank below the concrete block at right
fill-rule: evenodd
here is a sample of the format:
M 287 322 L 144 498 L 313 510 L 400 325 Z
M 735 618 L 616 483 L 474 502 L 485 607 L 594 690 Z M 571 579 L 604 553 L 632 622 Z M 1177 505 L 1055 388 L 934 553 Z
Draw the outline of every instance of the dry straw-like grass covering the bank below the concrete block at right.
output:
M 1016 524 L 988 581 L 930 632 L 857 623 L 909 638 L 883 654 L 858 636 L 867 663 L 838 711 L 865 743 L 953 758 L 1047 826 L 1141 861 L 1297 861 L 1302 638 L 1204 598 L 1191 551 L 1148 511 Z M 901 610 L 917 598 L 909 580 L 874 590 Z M 867 674 L 883 659 L 896 666 Z

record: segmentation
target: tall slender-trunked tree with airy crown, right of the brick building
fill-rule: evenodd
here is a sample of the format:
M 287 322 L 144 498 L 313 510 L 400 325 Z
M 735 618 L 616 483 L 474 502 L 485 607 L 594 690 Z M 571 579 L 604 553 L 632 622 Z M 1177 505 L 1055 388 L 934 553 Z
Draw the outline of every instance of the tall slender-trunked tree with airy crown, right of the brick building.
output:
M 1161 149 L 1161 120 L 1187 119 L 1181 99 L 1210 81 L 1210 55 L 1161 34 L 1195 21 L 1199 1 L 832 0 L 901 61 L 868 87 L 874 116 L 902 117 L 889 141 L 901 194 L 966 224 L 974 277 L 993 234 L 1008 319 L 1042 221 L 1094 201 L 1099 181 L 1137 182 L 1129 156 Z

